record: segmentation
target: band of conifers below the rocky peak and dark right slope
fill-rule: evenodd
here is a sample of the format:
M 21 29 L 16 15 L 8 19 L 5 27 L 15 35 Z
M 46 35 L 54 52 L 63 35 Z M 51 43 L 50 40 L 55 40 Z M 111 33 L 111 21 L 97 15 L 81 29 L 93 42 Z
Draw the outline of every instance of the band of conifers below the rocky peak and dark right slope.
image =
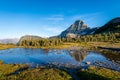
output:
M 63 42 L 119 42 L 120 33 L 102 33 L 86 36 L 77 36 L 76 38 L 61 38 Z

